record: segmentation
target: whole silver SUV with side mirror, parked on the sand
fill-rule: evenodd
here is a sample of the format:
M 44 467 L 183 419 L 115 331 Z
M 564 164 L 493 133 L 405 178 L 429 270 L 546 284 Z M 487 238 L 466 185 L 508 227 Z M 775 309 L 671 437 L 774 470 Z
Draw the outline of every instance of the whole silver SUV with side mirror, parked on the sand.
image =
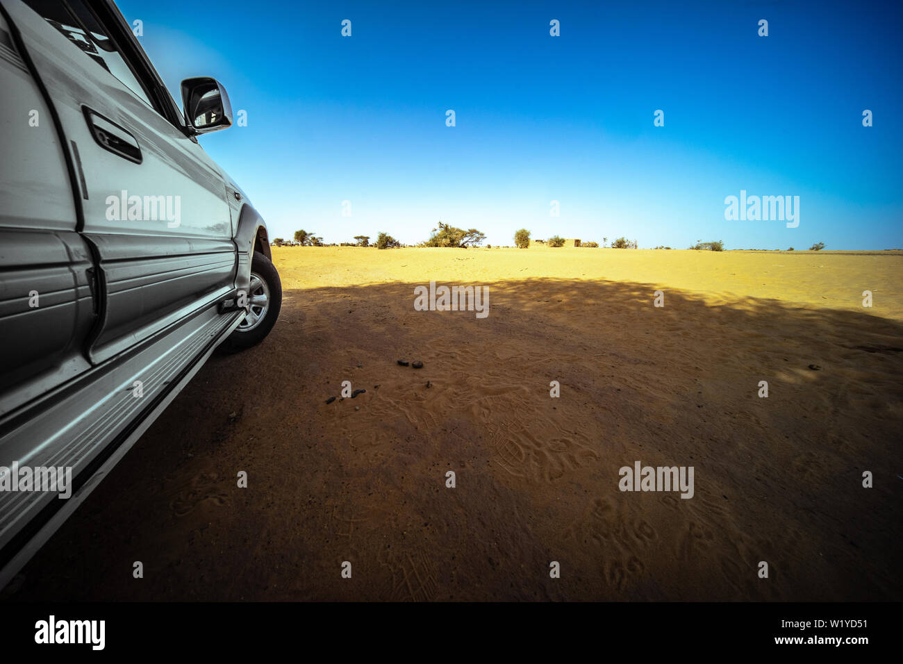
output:
M 108 0 L 0 0 L 0 587 L 210 354 L 282 304 L 264 221 Z

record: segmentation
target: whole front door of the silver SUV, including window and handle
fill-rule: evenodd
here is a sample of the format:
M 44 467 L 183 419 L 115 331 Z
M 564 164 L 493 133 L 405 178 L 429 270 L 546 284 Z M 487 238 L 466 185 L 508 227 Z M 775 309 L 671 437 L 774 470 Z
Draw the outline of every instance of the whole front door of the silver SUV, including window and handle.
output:
M 104 295 L 88 340 L 98 363 L 228 295 L 236 248 L 226 186 L 174 123 L 172 98 L 135 57 L 140 47 L 115 5 L 12 7 L 78 169 L 79 230 L 98 254 Z

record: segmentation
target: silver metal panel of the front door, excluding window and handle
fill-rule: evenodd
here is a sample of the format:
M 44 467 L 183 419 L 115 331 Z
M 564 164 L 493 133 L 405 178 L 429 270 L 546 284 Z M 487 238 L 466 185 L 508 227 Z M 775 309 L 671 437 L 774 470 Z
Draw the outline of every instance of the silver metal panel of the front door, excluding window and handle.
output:
M 231 284 L 236 250 L 226 187 L 200 145 L 49 21 L 27 6 L 15 20 L 34 46 L 34 65 L 79 167 L 81 231 L 98 250 L 106 290 L 89 360 L 103 361 L 151 333 L 154 317 Z M 86 108 L 134 136 L 140 164 L 98 144 Z

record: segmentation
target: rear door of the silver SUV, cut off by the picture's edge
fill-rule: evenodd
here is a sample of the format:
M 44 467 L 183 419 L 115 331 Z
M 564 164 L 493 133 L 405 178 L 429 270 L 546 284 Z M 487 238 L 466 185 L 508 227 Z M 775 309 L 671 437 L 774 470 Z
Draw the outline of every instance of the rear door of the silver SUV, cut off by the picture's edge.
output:
M 95 320 L 65 148 L 14 35 L 0 14 L 0 417 L 90 367 Z

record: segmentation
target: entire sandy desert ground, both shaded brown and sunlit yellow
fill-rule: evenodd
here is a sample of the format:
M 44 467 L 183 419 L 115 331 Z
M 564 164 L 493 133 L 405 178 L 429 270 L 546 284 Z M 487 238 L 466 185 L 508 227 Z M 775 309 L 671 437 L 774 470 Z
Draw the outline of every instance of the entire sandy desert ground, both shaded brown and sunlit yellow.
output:
M 7 597 L 903 599 L 900 252 L 273 254 L 271 335 L 211 359 Z M 488 317 L 415 311 L 431 280 L 489 286 Z M 367 391 L 325 403 L 344 380 Z M 637 461 L 694 466 L 694 497 L 619 491 Z

